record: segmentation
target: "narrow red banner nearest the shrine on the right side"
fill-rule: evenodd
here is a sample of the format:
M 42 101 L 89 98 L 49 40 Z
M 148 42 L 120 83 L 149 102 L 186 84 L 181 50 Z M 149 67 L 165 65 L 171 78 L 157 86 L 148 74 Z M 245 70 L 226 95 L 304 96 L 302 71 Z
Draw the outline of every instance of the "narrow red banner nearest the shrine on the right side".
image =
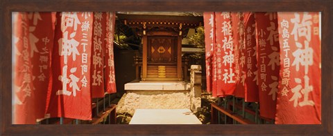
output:
M 214 12 L 203 12 L 205 27 L 205 57 L 206 57 L 206 80 L 207 92 L 212 92 L 216 97 L 216 90 L 212 90 L 212 55 L 215 44 L 215 14 Z

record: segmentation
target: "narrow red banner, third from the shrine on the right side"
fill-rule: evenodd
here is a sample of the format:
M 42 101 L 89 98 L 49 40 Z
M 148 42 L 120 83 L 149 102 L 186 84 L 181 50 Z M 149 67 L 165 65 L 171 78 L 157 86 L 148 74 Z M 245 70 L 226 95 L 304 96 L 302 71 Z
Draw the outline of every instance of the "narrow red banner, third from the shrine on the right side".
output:
M 245 41 L 244 41 L 244 14 L 243 12 L 231 12 L 232 18 L 232 37 L 234 43 L 234 76 L 236 88 L 234 96 L 245 97 Z

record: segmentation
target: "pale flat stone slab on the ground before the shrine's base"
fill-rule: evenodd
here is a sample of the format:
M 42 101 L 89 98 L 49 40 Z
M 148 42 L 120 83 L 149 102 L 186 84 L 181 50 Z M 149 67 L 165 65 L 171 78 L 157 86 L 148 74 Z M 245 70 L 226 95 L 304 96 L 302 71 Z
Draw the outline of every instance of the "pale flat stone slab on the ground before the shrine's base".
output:
M 137 109 L 130 124 L 202 124 L 189 109 Z

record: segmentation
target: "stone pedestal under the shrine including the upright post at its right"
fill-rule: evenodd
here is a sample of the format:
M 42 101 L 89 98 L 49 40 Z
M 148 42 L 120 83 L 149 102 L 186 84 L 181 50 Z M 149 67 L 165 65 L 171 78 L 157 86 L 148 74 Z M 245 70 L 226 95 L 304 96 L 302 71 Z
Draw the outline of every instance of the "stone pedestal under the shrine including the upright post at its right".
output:
M 194 113 L 201 106 L 201 67 L 191 66 L 191 82 L 164 81 L 125 84 L 126 94 L 117 105 L 117 113 L 133 115 L 136 109 L 181 109 Z

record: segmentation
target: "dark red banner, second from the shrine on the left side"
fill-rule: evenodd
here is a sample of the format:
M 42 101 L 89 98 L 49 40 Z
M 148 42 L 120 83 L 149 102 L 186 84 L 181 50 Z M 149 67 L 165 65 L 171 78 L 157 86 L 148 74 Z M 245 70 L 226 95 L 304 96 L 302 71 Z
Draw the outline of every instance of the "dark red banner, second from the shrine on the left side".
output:
M 104 51 L 106 34 L 106 12 L 94 12 L 92 24 L 92 98 L 104 97 Z

